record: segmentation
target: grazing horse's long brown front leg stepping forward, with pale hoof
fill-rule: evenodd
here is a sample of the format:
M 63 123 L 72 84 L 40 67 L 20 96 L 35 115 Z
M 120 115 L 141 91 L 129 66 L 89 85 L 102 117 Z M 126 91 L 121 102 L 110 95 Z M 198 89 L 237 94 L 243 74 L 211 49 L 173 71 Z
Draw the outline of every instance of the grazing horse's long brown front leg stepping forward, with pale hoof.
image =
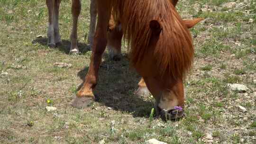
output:
M 98 24 L 92 46 L 91 63 L 85 77 L 82 88 L 77 92 L 72 106 L 77 108 L 87 107 L 94 100 L 92 89 L 98 81 L 98 71 L 101 64 L 101 58 L 107 45 L 107 27 L 110 20 L 111 0 L 97 0 L 98 6 Z

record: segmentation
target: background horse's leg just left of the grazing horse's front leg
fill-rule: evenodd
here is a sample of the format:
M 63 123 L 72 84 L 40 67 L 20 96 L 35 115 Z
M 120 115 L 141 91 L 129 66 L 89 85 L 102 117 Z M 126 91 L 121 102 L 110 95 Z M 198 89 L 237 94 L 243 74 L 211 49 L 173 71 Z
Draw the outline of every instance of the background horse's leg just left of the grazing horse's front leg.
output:
M 91 0 L 90 16 L 91 16 L 91 21 L 90 21 L 88 43 L 91 48 L 91 46 L 93 45 L 93 37 L 94 37 L 94 33 L 95 33 L 96 16 L 97 16 L 97 5 L 96 5 L 95 0 Z

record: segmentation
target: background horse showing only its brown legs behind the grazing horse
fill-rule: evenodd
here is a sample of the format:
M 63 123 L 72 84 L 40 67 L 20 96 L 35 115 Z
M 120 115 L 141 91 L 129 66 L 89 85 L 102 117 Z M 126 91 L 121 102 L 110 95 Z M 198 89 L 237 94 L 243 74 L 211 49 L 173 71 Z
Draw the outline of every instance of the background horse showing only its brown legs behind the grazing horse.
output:
M 48 8 L 48 15 L 49 15 L 49 26 L 47 31 L 48 36 L 48 45 L 50 47 L 55 47 L 60 45 L 61 43 L 61 36 L 59 33 L 59 7 L 60 7 L 61 0 L 46 0 L 46 5 Z M 77 24 L 78 24 L 78 17 L 81 12 L 81 1 L 80 0 L 72 0 L 72 18 L 73 18 L 73 28 L 72 33 L 70 35 L 71 46 L 70 46 L 70 53 L 77 54 L 79 53 L 79 49 L 77 46 Z M 97 9 L 96 9 L 96 1 L 91 0 L 90 5 L 90 30 L 88 35 L 88 43 L 89 46 L 92 46 L 93 37 L 95 33 L 95 25 L 96 25 L 96 16 L 97 16 Z M 108 31 L 108 48 L 110 58 L 113 60 L 119 60 L 121 54 L 121 39 L 122 39 L 122 32 L 120 28 L 114 27 L 113 19 L 110 20 L 110 29 Z

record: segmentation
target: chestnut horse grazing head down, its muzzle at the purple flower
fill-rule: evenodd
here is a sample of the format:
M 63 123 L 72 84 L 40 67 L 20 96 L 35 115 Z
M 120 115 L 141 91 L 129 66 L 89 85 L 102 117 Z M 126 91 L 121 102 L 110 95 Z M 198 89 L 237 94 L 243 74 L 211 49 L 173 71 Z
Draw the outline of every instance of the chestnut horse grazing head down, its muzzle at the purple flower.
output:
M 188 25 L 175 9 L 178 0 L 96 0 L 98 24 L 91 63 L 82 88 L 72 105 L 83 108 L 93 100 L 102 54 L 107 45 L 111 11 L 131 46 L 130 64 L 143 77 L 155 98 L 156 113 L 167 119 L 183 116 L 183 79 L 193 62 L 193 44 Z

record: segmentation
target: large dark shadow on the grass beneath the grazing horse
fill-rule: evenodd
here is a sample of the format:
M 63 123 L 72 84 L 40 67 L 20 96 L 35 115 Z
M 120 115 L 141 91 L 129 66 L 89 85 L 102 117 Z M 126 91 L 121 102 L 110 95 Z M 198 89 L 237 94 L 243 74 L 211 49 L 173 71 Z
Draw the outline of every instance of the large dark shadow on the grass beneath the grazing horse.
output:
M 87 71 L 88 67 L 77 75 L 84 81 Z M 93 91 L 96 101 L 114 110 L 132 113 L 133 117 L 148 117 L 154 102 L 148 100 L 148 96 L 139 97 L 134 94 L 140 78 L 129 68 L 127 58 L 123 57 L 119 62 L 102 62 L 98 85 Z

